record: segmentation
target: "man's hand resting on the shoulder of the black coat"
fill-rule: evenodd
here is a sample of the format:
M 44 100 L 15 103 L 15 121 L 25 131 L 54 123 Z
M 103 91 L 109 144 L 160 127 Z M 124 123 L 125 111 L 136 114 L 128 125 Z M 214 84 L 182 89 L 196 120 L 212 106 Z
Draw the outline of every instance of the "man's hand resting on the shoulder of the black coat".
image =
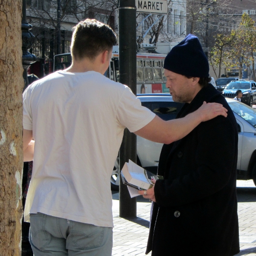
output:
M 219 115 L 227 117 L 227 109 L 219 103 L 204 102 L 203 105 L 194 112 L 194 114 L 201 117 L 201 122 L 205 122 Z

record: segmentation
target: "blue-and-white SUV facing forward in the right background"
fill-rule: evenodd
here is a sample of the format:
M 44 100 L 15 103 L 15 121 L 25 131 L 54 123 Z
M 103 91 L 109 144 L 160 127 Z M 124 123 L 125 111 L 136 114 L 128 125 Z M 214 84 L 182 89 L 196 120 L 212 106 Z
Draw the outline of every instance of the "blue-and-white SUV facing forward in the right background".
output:
M 246 81 L 239 79 L 238 81 L 230 82 L 223 90 L 223 95 L 234 99 L 236 97 L 236 91 L 241 90 L 243 96 L 241 102 L 244 102 L 248 106 L 252 107 L 253 103 L 256 102 L 256 83 L 255 81 Z

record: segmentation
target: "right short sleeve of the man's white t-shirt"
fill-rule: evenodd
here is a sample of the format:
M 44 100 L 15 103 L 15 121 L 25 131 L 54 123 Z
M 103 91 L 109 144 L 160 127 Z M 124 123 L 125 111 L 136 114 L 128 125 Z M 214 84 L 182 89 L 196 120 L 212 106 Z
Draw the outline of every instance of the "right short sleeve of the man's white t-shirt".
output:
M 155 114 L 148 108 L 143 107 L 130 88 L 125 86 L 117 107 L 116 116 L 121 125 L 134 132 L 151 122 Z

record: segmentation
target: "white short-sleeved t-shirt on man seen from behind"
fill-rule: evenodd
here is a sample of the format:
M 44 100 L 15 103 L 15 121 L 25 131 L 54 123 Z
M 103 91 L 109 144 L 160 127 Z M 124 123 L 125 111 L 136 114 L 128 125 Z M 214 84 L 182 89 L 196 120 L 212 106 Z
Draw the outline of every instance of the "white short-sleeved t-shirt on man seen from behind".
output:
M 137 131 L 155 114 L 127 86 L 94 71 L 34 82 L 23 108 L 23 128 L 35 139 L 25 221 L 42 212 L 113 227 L 110 178 L 124 128 Z

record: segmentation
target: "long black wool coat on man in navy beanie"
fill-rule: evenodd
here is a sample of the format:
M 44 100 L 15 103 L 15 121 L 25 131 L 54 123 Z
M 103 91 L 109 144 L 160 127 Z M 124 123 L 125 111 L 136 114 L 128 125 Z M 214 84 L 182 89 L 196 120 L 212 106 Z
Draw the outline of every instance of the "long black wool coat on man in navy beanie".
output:
M 236 198 L 237 123 L 221 93 L 208 84 L 177 118 L 203 102 L 218 102 L 228 116 L 202 122 L 181 140 L 163 145 L 151 209 L 146 254 L 232 256 L 239 253 Z

